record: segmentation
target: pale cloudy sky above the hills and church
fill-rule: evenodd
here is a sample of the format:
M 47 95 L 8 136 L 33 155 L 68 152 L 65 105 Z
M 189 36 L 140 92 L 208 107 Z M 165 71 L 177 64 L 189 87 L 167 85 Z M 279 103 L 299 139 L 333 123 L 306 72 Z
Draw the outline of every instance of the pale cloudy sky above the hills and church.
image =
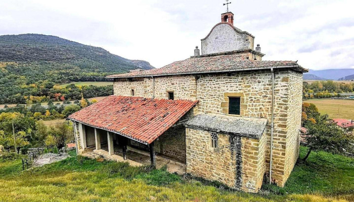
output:
M 352 0 L 230 0 L 234 26 L 255 36 L 263 60 L 308 69 L 354 68 Z M 194 54 L 226 12 L 223 0 L 1 0 L 0 35 L 55 35 L 163 67 Z

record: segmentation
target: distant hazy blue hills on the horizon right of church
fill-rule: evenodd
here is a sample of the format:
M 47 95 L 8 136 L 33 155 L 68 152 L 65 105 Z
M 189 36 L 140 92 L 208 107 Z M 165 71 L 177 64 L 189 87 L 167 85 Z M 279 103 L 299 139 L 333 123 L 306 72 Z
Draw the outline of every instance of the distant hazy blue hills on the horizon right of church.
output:
M 354 74 L 354 69 L 309 70 L 308 73 L 304 73 L 304 75 L 309 74 L 313 74 L 329 80 L 339 80 L 339 78 Z

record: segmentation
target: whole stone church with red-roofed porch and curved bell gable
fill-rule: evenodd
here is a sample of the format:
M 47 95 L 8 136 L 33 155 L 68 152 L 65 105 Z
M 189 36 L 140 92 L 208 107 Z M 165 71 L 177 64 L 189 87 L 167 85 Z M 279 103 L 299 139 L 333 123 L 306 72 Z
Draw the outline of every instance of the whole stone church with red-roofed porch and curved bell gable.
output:
M 263 61 L 254 36 L 233 23 L 233 13 L 222 14 L 186 60 L 107 76 L 114 95 L 69 116 L 78 152 L 168 160 L 247 192 L 263 181 L 284 186 L 299 154 L 307 70 Z

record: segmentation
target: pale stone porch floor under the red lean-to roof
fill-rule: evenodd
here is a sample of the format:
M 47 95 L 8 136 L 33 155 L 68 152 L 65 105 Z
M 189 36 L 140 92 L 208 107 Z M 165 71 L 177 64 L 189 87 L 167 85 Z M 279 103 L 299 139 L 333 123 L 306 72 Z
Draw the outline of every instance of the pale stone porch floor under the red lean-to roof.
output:
M 128 146 L 126 150 L 127 160 L 124 160 L 123 153 L 120 148 L 114 146 L 114 155 L 109 155 L 107 150 L 107 145 L 102 145 L 101 149 L 87 151 L 87 153 L 83 153 L 82 156 L 89 158 L 104 157 L 105 159 L 111 161 L 128 162 L 130 166 L 150 165 L 150 154 L 147 151 Z M 161 157 L 156 154 L 156 168 L 160 169 L 165 165 L 167 165 L 167 171 L 170 173 L 178 173 L 180 175 L 186 173 L 185 164 Z

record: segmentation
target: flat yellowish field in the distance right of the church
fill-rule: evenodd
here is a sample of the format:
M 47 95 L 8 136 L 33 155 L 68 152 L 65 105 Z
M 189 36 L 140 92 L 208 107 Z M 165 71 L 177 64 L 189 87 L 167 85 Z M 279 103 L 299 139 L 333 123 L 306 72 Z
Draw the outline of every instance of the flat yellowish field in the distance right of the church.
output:
M 328 114 L 329 118 L 354 120 L 354 100 L 350 99 L 308 99 L 304 103 L 316 105 L 321 114 Z M 338 113 L 339 110 L 339 113 Z

